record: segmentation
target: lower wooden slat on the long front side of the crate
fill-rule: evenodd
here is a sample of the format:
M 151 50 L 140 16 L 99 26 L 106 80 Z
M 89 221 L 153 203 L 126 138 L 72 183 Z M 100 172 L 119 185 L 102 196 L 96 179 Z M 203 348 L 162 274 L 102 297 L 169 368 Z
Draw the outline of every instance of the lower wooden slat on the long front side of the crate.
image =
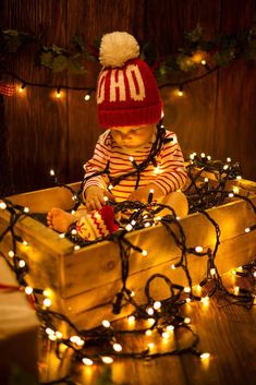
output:
M 243 233 L 239 237 L 230 238 L 223 241 L 218 250 L 216 265 L 218 272 L 222 275 L 234 267 L 249 263 L 256 256 L 256 233 Z M 192 276 L 193 285 L 198 284 L 205 278 L 207 272 L 207 258 L 188 254 L 188 269 Z M 171 264 L 179 262 L 176 255 L 171 255 L 170 261 L 142 269 L 129 276 L 127 288 L 135 291 L 134 299 L 138 303 L 146 302 L 144 288 L 146 281 L 154 274 L 163 274 L 169 277 L 173 284 L 187 286 L 187 279 L 181 268 L 171 269 Z M 66 314 L 80 326 L 93 327 L 99 324 L 102 318 L 115 320 L 120 315 L 112 314 L 111 300 L 122 287 L 121 279 L 114 280 L 101 287 L 87 290 L 84 293 L 63 299 L 63 308 Z M 157 279 L 150 286 L 151 294 L 155 299 L 167 298 L 170 293 L 161 279 Z M 121 316 L 130 314 L 134 309 L 125 305 L 122 309 Z

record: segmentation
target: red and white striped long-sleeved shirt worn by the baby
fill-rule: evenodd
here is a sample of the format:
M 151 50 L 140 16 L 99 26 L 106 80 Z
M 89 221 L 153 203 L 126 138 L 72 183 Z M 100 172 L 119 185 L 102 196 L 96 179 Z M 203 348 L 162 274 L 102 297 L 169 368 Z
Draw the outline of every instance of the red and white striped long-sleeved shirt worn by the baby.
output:
M 166 130 L 164 139 L 170 139 L 171 141 L 162 144 L 159 154 L 155 157 L 156 164 L 153 165 L 149 163 L 148 167 L 141 172 L 138 188 L 155 183 L 162 190 L 163 195 L 167 195 L 184 185 L 186 170 L 176 135 Z M 114 142 L 111 136 L 111 130 L 107 130 L 99 136 L 93 158 L 84 165 L 85 177 L 87 178 L 95 172 L 105 170 L 108 163 L 109 175 L 113 179 L 133 171 L 132 158 L 137 165 L 145 160 L 150 153 L 155 140 L 156 134 L 143 147 L 124 148 Z M 95 176 L 87 180 L 85 190 L 89 185 L 98 185 L 101 189 L 110 190 L 110 184 L 107 175 Z M 129 176 L 121 180 L 119 184 L 112 187 L 111 193 L 117 202 L 126 201 L 129 195 L 134 191 L 135 185 L 136 173 Z

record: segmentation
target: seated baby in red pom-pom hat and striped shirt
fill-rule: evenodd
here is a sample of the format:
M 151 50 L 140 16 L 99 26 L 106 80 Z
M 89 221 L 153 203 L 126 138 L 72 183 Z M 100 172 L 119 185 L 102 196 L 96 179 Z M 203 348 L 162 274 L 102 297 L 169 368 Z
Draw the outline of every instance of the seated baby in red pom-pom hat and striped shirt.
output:
M 153 201 L 173 207 L 178 216 L 187 214 L 187 201 L 179 191 L 186 180 L 182 152 L 175 134 L 160 124 L 158 86 L 138 55 L 138 44 L 127 33 L 114 32 L 101 39 L 96 97 L 99 123 L 107 130 L 84 166 L 85 207 L 75 215 L 60 208 L 48 213 L 48 226 L 57 231 L 65 232 L 74 222 L 84 239 L 97 238 L 92 228 L 102 224 L 103 234 L 114 231 L 108 198 L 147 203 L 151 193 Z

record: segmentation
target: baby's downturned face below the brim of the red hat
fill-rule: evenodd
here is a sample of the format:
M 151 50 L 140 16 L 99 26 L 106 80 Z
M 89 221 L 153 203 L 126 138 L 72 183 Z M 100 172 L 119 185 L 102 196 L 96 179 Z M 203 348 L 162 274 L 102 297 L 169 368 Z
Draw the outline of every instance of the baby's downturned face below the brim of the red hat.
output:
M 155 132 L 155 124 L 113 127 L 111 135 L 118 145 L 127 148 L 136 148 L 148 143 Z

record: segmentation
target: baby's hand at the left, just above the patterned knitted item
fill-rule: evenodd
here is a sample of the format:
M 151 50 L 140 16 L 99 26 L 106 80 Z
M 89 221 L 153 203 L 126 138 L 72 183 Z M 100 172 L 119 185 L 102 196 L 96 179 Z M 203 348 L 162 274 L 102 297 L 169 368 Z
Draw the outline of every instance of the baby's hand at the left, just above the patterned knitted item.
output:
M 106 205 L 107 198 L 114 201 L 114 197 L 107 190 L 97 185 L 89 185 L 85 191 L 85 204 L 88 212 L 100 209 Z

